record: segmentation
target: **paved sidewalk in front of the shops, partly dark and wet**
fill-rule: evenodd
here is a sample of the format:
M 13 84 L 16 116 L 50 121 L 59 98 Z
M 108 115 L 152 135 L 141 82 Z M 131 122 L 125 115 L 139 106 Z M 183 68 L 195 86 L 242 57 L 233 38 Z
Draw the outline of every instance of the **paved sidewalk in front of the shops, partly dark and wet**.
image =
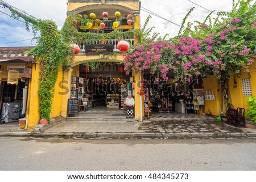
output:
M 161 117 L 162 116 L 162 117 Z M 0 137 L 43 138 L 229 138 L 256 137 L 256 130 L 237 128 L 196 115 L 155 115 L 146 122 L 66 120 L 44 132 L 3 131 Z M 1 126 L 0 126 L 1 128 Z

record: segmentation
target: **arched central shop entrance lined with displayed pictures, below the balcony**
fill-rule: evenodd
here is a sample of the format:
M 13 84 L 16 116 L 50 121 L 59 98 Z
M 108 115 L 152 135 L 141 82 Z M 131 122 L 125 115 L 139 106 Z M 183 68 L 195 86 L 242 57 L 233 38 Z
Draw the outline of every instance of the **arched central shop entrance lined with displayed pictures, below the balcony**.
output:
M 133 77 L 125 74 L 122 65 L 102 62 L 94 71 L 82 64 L 77 69 L 79 77 L 71 76 L 71 98 L 79 100 L 80 115 L 125 115 L 124 100 L 128 93 L 133 93 Z

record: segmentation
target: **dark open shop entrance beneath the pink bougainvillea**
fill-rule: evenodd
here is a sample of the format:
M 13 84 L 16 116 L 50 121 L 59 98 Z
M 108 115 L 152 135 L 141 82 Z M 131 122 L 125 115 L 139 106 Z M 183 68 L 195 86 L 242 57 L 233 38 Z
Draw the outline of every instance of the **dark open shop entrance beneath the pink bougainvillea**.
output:
M 202 79 L 188 79 L 187 82 L 169 79 L 158 79 L 145 71 L 144 73 L 144 111 L 158 113 L 196 114 L 204 113 L 204 89 Z M 148 113 L 149 116 L 150 113 Z M 168 117 L 171 117 L 169 115 Z

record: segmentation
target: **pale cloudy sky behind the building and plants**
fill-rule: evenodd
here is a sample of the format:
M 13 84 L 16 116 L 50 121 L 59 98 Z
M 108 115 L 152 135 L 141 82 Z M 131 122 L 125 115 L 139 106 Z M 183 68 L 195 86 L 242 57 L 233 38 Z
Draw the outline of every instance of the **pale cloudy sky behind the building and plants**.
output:
M 61 29 L 67 17 L 67 0 L 5 0 L 4 2 L 36 18 L 53 20 L 59 29 Z M 232 9 L 232 0 L 141 0 L 141 26 L 144 25 L 147 16 L 150 15 L 148 12 L 143 11 L 144 9 L 181 25 L 187 12 L 192 7 L 195 7 L 188 21 L 194 22 L 198 20 L 203 22 L 209 11 L 194 3 L 216 12 L 230 11 Z M 31 41 L 34 37 L 33 33 L 26 31 L 23 22 L 14 20 L 6 14 L 10 14 L 10 11 L 0 8 L 0 46 L 34 46 L 36 44 L 35 41 Z M 176 36 L 179 32 L 179 27 L 175 24 L 160 19 L 157 16 L 151 16 L 152 18 L 147 27 L 154 26 L 153 32 L 160 33 L 162 37 L 168 33 L 169 38 Z M 213 15 L 212 17 L 214 18 L 215 16 Z

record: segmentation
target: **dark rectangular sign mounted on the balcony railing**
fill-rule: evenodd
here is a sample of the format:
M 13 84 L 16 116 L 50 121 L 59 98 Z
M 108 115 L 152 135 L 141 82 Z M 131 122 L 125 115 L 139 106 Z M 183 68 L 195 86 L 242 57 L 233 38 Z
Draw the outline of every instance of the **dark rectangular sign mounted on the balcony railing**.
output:
M 114 45 L 85 45 L 85 54 L 111 54 L 114 52 Z

